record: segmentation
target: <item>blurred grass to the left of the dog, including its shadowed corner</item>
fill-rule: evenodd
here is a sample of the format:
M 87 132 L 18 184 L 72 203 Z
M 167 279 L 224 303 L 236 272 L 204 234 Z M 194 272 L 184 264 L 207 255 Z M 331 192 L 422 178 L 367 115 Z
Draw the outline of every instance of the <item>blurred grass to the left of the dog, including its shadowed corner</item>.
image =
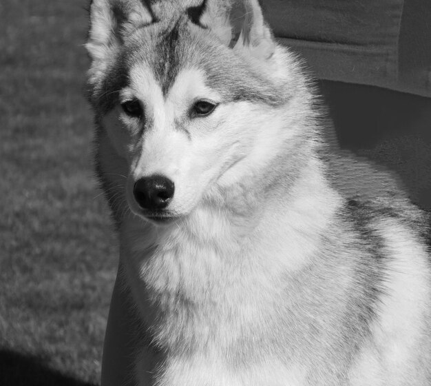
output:
M 97 385 L 116 272 L 92 170 L 87 0 L 0 2 L 0 385 Z

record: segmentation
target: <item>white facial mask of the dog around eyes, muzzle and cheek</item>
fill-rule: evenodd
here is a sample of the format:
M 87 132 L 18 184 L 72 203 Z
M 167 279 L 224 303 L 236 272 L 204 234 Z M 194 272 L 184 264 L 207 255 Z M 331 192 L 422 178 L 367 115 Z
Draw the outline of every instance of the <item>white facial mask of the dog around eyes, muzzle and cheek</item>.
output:
M 286 121 L 290 120 L 288 111 L 260 108 L 257 115 L 252 103 L 220 103 L 206 119 L 185 119 L 193 137 L 191 141 L 176 127 L 176 120 L 184 120 L 194 101 L 221 101 L 217 92 L 204 85 L 202 70 L 182 70 L 166 97 L 145 66 L 132 68 L 131 79 L 133 83 L 129 89 L 123 90 L 122 99 L 133 96 L 144 101 L 147 119 L 152 122 L 144 134 L 144 141 L 136 141 L 131 135 L 131 142 L 140 146 L 129 151 L 129 154 L 134 154 L 134 159 L 131 161 L 127 199 L 136 212 L 132 187 L 140 177 L 162 174 L 174 181 L 176 194 L 170 208 L 178 215 L 188 214 L 213 181 L 217 181 L 220 187 L 229 186 L 238 182 L 238 176 L 243 179 L 264 169 L 271 162 L 269 152 L 277 154 L 286 141 L 302 130 L 293 119 L 291 128 L 284 129 Z M 118 133 L 122 114 L 119 110 L 116 113 L 118 119 L 107 117 L 107 121 L 112 122 L 105 123 L 109 133 Z M 262 130 L 263 125 L 265 130 Z M 138 132 L 133 122 L 126 126 L 132 130 L 123 128 L 123 132 Z M 109 135 L 114 138 L 114 134 Z M 114 141 L 123 143 L 118 141 L 118 135 L 115 134 Z

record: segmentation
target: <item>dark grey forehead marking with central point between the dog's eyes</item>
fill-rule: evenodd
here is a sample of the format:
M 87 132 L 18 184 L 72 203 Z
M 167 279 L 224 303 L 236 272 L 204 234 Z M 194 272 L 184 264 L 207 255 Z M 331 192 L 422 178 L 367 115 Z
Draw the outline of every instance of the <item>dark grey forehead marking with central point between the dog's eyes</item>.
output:
M 205 82 L 202 83 L 217 89 L 225 99 L 269 100 L 269 103 L 280 99 L 280 96 L 271 94 L 266 83 L 255 79 L 249 68 L 231 55 L 231 50 L 222 48 L 211 39 L 202 39 L 202 34 L 190 28 L 184 19 L 174 21 L 174 26 L 154 26 L 153 30 L 147 30 L 140 39 L 136 39 L 139 41 L 147 43 L 136 43 L 131 51 L 132 63 L 147 63 L 164 95 L 178 82 L 181 72 L 198 66 L 204 74 Z

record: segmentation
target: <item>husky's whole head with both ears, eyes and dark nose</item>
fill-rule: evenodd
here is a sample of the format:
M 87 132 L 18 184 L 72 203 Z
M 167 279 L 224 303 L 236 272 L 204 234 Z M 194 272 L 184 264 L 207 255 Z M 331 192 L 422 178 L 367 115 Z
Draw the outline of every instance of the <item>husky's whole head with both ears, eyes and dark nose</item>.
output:
M 283 102 L 259 72 L 274 45 L 257 2 L 178 3 L 94 0 L 87 43 L 90 100 L 127 164 L 127 203 L 158 222 L 262 167 L 279 145 L 262 128 L 280 127 Z

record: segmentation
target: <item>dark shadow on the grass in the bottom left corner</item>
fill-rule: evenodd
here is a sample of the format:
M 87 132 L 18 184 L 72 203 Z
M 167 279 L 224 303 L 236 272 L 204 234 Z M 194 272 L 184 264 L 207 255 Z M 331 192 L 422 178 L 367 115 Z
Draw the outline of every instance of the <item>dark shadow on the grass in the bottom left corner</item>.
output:
M 96 386 L 50 369 L 40 358 L 0 350 L 1 386 Z

